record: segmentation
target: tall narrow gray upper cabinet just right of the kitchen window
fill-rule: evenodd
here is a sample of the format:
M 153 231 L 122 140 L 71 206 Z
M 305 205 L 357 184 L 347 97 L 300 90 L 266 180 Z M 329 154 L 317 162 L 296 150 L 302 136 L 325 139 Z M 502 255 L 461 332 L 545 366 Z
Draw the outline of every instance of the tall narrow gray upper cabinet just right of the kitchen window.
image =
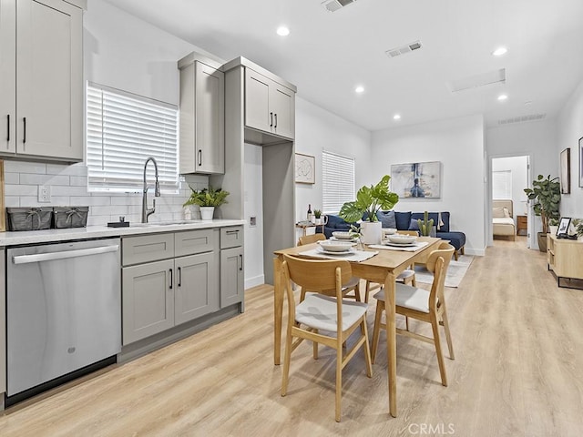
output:
M 180 68 L 180 173 L 225 172 L 225 75 L 193 55 Z

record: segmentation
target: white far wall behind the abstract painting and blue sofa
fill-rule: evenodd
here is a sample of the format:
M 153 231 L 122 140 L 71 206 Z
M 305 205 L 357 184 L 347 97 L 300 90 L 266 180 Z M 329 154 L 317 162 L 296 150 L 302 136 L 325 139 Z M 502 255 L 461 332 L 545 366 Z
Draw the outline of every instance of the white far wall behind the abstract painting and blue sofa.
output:
M 442 163 L 441 198 L 400 199 L 397 211 L 450 211 L 450 229 L 465 233 L 465 252 L 484 255 L 485 171 L 484 120 L 455 118 L 373 133 L 370 175 L 391 174 L 391 165 Z

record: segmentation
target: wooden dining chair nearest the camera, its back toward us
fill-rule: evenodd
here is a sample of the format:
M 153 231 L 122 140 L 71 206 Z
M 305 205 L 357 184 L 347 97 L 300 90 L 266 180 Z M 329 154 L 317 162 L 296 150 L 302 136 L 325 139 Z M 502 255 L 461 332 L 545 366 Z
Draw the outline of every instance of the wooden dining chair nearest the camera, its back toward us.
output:
M 343 283 L 350 279 L 352 274 L 348 261 L 302 259 L 289 255 L 284 255 L 283 259 L 281 271 L 288 300 L 288 328 L 281 375 L 281 396 L 285 396 L 288 390 L 292 351 L 295 351 L 303 340 L 312 340 L 315 360 L 318 358 L 318 344 L 329 346 L 336 350 L 335 419 L 336 422 L 340 422 L 342 371 L 359 348 L 363 348 L 364 351 L 366 376 L 369 378 L 373 376 L 366 328 L 368 305 L 342 299 Z M 291 281 L 302 286 L 302 289 L 316 292 L 308 294 L 305 300 L 296 305 Z M 344 353 L 343 342 L 358 328 L 361 329 L 359 337 L 353 347 Z M 321 330 L 331 332 L 333 335 L 324 335 L 320 333 Z M 294 338 L 297 340 L 292 341 Z

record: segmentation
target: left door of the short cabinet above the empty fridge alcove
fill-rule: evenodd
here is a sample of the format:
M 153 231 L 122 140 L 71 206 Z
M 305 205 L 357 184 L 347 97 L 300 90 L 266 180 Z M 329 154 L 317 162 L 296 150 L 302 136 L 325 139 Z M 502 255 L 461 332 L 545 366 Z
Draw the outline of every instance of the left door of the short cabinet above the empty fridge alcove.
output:
M 270 83 L 267 77 L 245 69 L 245 126 L 271 132 Z

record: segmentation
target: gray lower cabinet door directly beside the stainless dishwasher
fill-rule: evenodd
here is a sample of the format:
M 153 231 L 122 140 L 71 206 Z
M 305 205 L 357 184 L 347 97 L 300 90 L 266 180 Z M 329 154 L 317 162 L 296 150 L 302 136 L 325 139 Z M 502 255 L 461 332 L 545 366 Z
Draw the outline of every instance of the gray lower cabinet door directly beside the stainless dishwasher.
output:
M 174 326 L 173 269 L 172 259 L 122 269 L 124 345 Z

